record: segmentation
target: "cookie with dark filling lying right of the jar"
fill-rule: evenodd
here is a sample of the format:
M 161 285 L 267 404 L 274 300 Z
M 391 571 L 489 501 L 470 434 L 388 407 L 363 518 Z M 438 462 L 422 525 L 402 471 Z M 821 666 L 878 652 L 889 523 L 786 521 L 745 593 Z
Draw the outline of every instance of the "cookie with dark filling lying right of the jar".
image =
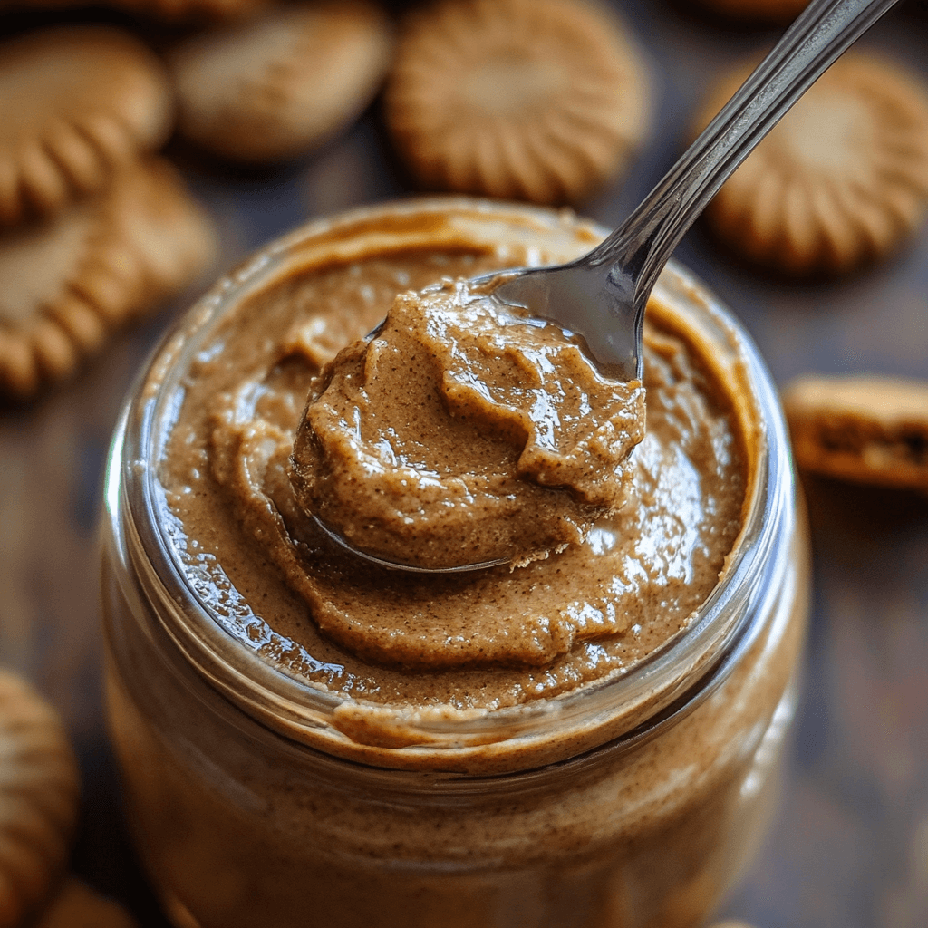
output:
M 783 407 L 803 470 L 928 493 L 928 382 L 807 375 Z

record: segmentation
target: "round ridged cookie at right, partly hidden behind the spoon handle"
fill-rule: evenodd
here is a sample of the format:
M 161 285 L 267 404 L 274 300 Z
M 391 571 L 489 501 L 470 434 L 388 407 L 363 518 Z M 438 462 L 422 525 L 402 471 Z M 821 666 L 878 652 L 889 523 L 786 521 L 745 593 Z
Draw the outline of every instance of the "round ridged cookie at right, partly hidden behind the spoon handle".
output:
M 750 68 L 706 100 L 702 128 Z M 837 274 L 891 251 L 928 207 L 928 91 L 847 52 L 741 164 L 705 211 L 717 238 L 793 276 Z

